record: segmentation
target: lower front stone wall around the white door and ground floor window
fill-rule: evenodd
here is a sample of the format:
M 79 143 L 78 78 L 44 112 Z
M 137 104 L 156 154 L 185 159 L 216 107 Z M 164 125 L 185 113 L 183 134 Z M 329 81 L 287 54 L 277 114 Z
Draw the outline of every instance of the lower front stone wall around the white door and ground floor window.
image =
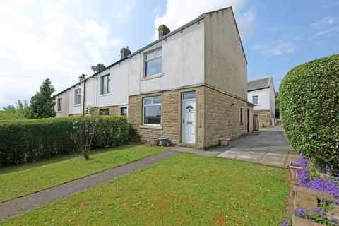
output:
M 184 92 L 196 91 L 196 147 L 200 148 L 203 142 L 203 87 L 169 90 L 129 97 L 129 123 L 138 131 L 141 141 L 149 142 L 151 139 L 168 137 L 172 144 L 181 141 L 181 95 Z M 143 97 L 160 95 L 161 104 L 161 125 L 143 125 Z M 202 117 L 202 118 L 201 118 Z M 199 128 L 198 128 L 199 127 Z M 198 128 L 198 129 L 197 129 Z

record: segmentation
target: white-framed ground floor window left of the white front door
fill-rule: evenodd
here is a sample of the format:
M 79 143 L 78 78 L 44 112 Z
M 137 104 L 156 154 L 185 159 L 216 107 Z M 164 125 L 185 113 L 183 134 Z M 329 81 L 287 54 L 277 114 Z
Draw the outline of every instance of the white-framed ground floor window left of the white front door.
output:
M 161 97 L 143 98 L 143 124 L 161 124 Z

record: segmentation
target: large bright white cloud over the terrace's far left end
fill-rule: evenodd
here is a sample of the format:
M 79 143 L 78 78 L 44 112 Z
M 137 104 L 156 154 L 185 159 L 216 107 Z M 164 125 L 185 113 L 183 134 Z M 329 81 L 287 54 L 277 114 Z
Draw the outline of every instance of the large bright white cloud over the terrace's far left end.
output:
M 109 25 L 69 10 L 78 7 L 78 1 L 64 0 L 1 4 L 0 30 L 6 32 L 0 35 L 0 108 L 30 97 L 47 77 L 63 90 L 118 53 L 120 38 L 112 37 Z

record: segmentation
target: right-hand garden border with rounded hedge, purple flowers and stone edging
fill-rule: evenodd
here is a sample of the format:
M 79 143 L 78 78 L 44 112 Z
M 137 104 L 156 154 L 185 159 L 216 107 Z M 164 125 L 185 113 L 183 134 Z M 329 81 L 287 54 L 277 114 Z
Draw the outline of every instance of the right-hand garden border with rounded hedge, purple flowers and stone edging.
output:
M 295 67 L 279 95 L 285 136 L 301 154 L 290 164 L 294 213 L 283 225 L 339 225 L 339 55 Z

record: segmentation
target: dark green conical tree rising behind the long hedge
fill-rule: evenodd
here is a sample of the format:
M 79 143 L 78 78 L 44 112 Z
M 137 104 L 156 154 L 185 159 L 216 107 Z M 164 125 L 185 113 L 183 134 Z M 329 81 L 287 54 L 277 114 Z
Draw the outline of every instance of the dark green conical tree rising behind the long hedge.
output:
M 39 92 L 35 93 L 30 99 L 29 118 L 41 119 L 55 117 L 54 111 L 55 100 L 52 94 L 54 93 L 54 86 L 51 84 L 49 78 L 46 78 L 40 86 Z

